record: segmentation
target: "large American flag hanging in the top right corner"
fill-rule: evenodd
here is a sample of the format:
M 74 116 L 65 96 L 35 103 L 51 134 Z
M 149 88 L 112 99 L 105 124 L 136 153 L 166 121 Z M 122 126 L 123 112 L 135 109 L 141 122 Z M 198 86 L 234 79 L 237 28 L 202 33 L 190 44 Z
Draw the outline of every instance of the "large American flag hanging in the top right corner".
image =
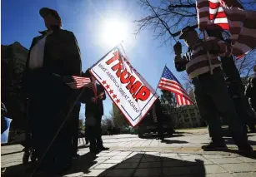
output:
M 197 0 L 198 27 L 228 30 L 233 55 L 240 58 L 256 47 L 256 12 L 244 10 L 237 0 Z

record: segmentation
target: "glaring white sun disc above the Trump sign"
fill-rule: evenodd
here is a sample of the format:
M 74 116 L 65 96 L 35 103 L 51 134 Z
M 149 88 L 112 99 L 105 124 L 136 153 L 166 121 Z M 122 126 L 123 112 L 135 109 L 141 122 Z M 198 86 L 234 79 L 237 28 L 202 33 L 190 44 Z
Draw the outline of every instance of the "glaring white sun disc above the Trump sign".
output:
M 109 46 L 115 46 L 126 39 L 128 30 L 125 22 L 109 20 L 103 23 L 103 42 Z

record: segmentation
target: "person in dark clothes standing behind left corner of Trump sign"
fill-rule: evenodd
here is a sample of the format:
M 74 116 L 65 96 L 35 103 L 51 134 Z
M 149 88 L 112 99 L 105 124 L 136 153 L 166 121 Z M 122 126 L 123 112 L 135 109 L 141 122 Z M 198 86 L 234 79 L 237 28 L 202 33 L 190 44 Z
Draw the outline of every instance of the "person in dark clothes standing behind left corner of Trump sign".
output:
M 103 100 L 106 94 L 103 86 L 96 84 L 95 78 L 90 71 L 85 72 L 85 76 L 91 77 L 93 86 L 86 88 L 82 96 L 83 102 L 86 103 L 86 129 L 88 129 L 88 139 L 90 141 L 90 151 L 98 153 L 100 150 L 106 150 L 103 146 L 101 121 L 103 116 Z

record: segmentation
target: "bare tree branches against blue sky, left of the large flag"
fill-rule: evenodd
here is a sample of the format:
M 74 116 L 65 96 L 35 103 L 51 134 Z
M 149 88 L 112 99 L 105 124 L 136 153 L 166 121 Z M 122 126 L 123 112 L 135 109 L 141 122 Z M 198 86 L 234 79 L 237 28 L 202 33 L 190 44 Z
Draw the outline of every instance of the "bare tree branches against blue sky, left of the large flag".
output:
M 138 0 L 138 4 L 148 13 L 135 21 L 138 26 L 136 34 L 149 29 L 155 39 L 162 39 L 163 44 L 172 44 L 183 27 L 188 25 L 197 27 L 194 0 L 161 0 L 160 3 L 153 0 Z M 256 0 L 243 1 L 241 4 L 246 9 L 256 8 Z

